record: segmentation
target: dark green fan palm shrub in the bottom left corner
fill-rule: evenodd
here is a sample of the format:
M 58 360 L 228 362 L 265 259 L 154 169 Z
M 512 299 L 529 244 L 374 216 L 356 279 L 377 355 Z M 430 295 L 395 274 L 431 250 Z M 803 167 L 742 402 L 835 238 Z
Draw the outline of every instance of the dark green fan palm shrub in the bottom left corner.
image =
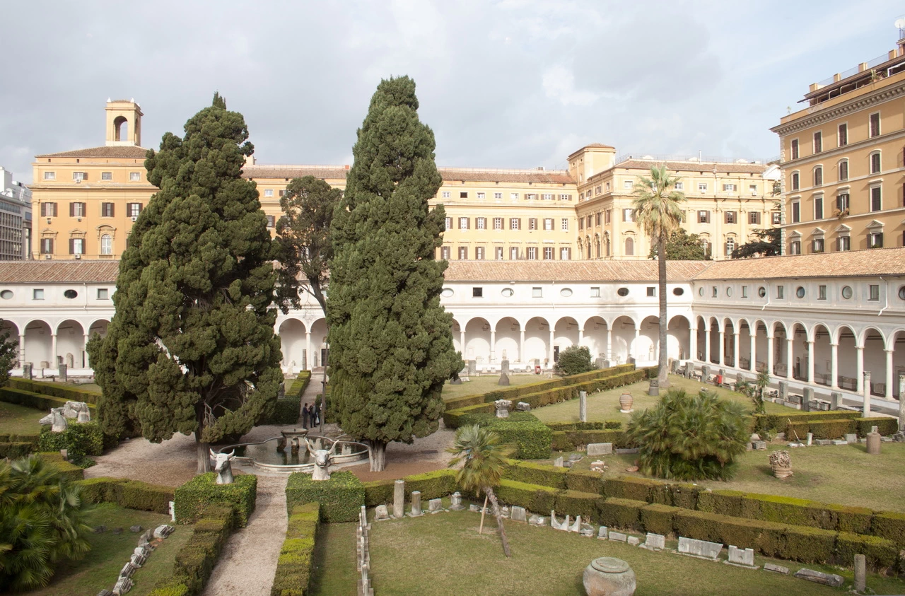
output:
M 38 456 L 0 460 L 0 592 L 46 586 L 57 560 L 88 553 L 80 493 Z

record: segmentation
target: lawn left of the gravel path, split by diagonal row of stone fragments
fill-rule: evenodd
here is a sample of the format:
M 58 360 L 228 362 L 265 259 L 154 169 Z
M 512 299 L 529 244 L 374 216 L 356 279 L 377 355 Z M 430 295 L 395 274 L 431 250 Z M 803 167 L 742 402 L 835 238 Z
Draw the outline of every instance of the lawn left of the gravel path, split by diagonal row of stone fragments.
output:
M 119 570 L 129 562 L 129 556 L 138 545 L 140 534 L 130 532 L 129 526 L 142 525 L 148 529 L 168 522 L 169 516 L 126 509 L 110 503 L 101 504 L 90 513 L 88 524 L 92 527 L 106 525 L 108 530 L 89 536 L 90 553 L 81 561 L 58 562 L 50 585 L 42 590 L 25 593 L 28 596 L 95 596 L 105 588 L 112 590 L 119 577 Z M 112 530 L 117 527 L 123 528 L 122 534 L 113 534 Z M 132 576 L 135 587 L 129 591 L 129 595 L 147 594 L 159 579 L 172 573 L 176 553 L 186 544 L 191 534 L 190 525 L 176 525 L 176 531 L 151 553 L 148 561 Z

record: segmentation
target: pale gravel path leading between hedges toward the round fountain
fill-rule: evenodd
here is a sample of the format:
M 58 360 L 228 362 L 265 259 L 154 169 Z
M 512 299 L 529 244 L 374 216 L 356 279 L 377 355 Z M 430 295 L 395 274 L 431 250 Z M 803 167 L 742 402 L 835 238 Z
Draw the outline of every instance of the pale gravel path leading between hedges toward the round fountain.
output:
M 248 525 L 226 543 L 203 596 L 269 596 L 286 538 L 286 479 L 258 475 L 258 498 Z

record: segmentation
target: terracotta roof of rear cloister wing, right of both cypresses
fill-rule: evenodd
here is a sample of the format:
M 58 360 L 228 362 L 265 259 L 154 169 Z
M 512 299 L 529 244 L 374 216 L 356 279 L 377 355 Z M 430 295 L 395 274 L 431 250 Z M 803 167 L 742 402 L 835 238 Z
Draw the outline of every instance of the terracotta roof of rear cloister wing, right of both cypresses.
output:
M 706 261 L 667 263 L 670 281 L 688 281 Z M 447 281 L 656 281 L 655 260 L 451 260 Z

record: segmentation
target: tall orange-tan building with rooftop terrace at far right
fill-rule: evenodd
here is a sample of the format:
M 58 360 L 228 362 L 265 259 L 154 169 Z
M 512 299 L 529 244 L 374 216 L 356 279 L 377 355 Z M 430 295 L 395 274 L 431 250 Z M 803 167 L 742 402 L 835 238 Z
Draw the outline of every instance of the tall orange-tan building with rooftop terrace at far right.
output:
M 771 128 L 783 170 L 783 251 L 905 245 L 905 40 L 810 86 Z

